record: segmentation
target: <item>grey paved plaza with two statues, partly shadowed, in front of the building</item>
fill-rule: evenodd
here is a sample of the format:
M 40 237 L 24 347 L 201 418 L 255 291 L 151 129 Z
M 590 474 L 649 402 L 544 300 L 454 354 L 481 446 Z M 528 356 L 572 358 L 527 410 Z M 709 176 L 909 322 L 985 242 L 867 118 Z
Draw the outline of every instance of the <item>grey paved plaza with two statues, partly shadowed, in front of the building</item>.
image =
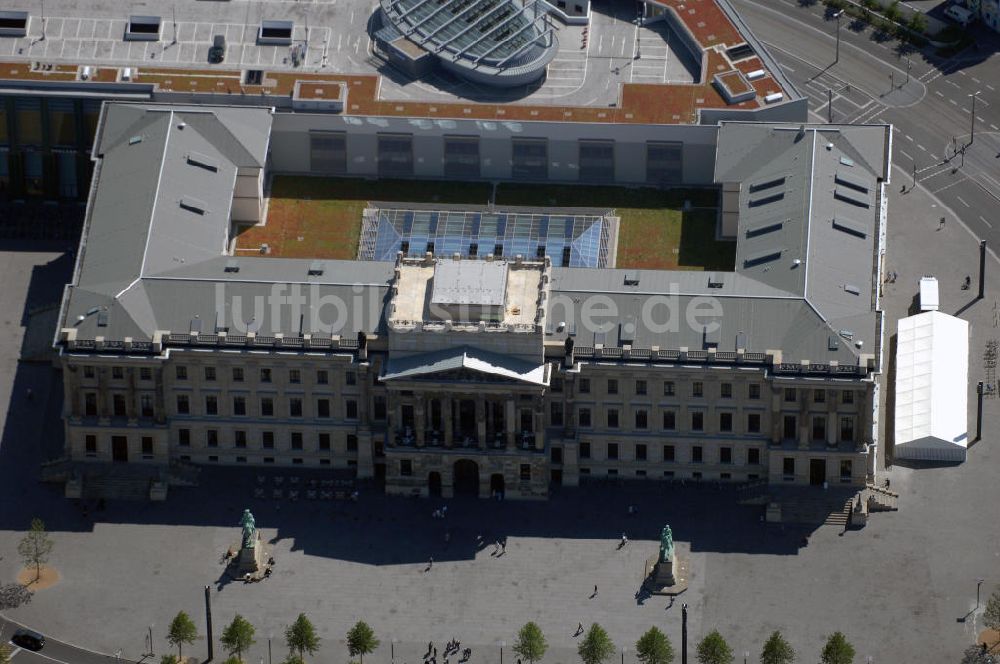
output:
M 943 309 L 961 311 L 972 324 L 971 436 L 983 350 L 1000 337 L 1000 262 L 991 255 L 987 297 L 972 301 L 975 287 L 963 291 L 961 283 L 969 273 L 975 279 L 977 242 L 923 191 L 899 194 L 905 177 L 894 177 L 887 260 L 898 277 L 885 286 L 887 330 L 911 305 L 919 277 L 936 275 Z M 942 216 L 946 224 L 937 230 Z M 982 628 L 973 611 L 976 580 L 986 580 L 984 598 L 1000 583 L 992 399 L 986 435 L 965 464 L 892 467 L 900 510 L 846 533 L 765 526 L 760 507 L 738 506 L 731 489 L 714 484 L 595 485 L 563 489 L 547 503 L 389 499 L 371 489 L 356 503 L 276 503 L 253 497 L 250 469 L 211 469 L 200 487 L 172 489 L 166 504 L 110 503 L 85 518 L 56 487 L 34 478 L 35 464 L 58 441 L 58 377 L 46 365 L 15 361 L 24 293 L 30 284 L 33 301 L 58 298 L 48 282 L 57 282 L 68 262 L 59 252 L 14 249 L 0 268 L 0 576 L 14 578 L 19 531 L 33 515 L 44 518 L 62 581 L 9 617 L 53 638 L 138 657 L 152 625 L 157 653 L 165 652 L 165 625 L 178 610 L 204 631 L 202 588 L 210 585 L 216 634 L 237 611 L 257 626 L 252 662 L 266 658 L 268 635 L 284 655 L 283 627 L 300 611 L 324 639 L 319 662 L 346 660 L 343 634 L 358 619 L 382 639 L 373 662 L 389 662 L 394 651 L 396 660 L 415 664 L 428 641 L 440 647 L 457 638 L 473 649 L 473 662 L 493 664 L 499 642 L 510 644 L 527 620 L 537 621 L 552 645 L 547 662 L 577 661 L 577 624 L 595 621 L 634 662 L 634 643 L 650 625 L 679 646 L 686 602 L 692 643 L 718 628 L 737 653 L 758 653 L 767 634 L 781 629 L 802 661 L 813 661 L 824 637 L 839 629 L 859 662 L 939 663 L 958 661 Z M 432 518 L 444 504 L 447 517 Z M 630 504 L 638 515 L 627 514 Z M 227 583 L 222 575 L 221 556 L 239 535 L 244 507 L 254 511 L 277 561 L 259 584 Z M 690 549 L 690 587 L 674 603 L 636 595 L 664 523 L 680 549 Z M 618 550 L 622 532 L 630 542 Z M 502 556 L 492 555 L 498 539 L 506 542 Z M 204 642 L 192 651 L 204 653 Z

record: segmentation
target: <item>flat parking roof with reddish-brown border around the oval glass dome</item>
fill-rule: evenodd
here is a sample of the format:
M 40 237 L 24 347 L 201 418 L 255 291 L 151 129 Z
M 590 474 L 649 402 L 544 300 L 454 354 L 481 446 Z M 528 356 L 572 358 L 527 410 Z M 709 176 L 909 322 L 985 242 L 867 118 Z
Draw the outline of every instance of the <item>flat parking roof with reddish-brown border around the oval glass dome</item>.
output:
M 30 16 L 26 36 L 0 37 L 0 94 L 4 88 L 44 88 L 47 94 L 63 90 L 170 101 L 167 93 L 183 93 L 213 95 L 211 103 L 232 99 L 280 106 L 291 99 L 297 82 L 302 84 L 297 99 L 305 101 L 312 95 L 328 100 L 327 86 L 343 84 L 345 115 L 618 124 L 696 123 L 703 110 L 764 108 L 764 98 L 778 92 L 786 100 L 799 99 L 760 44 L 741 32 L 727 0 L 657 4 L 666 21 L 638 32 L 634 24 L 595 6 L 589 41 L 582 26 L 553 22 L 565 45 L 549 65 L 546 81 L 494 95 L 439 75 L 421 79 L 420 86 L 397 80 L 399 76 L 383 77 L 384 64 L 371 52 L 365 29 L 371 7 L 358 0 L 297 5 L 291 46 L 255 41 L 262 20 L 290 18 L 282 15 L 286 9 L 280 3 L 261 6 L 249 23 L 242 4 L 181 4 L 176 24 L 172 16 L 162 17 L 158 41 L 128 42 L 127 15 L 107 3 L 52 0 L 46 3 L 45 39 L 40 39 L 37 13 Z M 605 53 L 612 40 L 601 40 L 599 32 L 626 44 L 622 53 Z M 227 54 L 224 63 L 210 66 L 207 52 L 215 34 L 227 36 Z M 643 57 L 638 57 L 639 39 Z M 748 44 L 751 55 L 744 57 L 740 47 Z M 650 69 L 654 61 L 658 64 Z M 678 64 L 685 61 L 687 65 Z M 667 65 L 661 66 L 663 62 Z M 661 73 L 670 70 L 670 63 L 677 71 Z M 262 71 L 259 84 L 245 82 L 248 70 Z M 764 70 L 767 75 L 751 82 L 748 99 L 729 103 L 713 79 L 735 70 Z M 614 85 L 607 85 L 609 80 Z

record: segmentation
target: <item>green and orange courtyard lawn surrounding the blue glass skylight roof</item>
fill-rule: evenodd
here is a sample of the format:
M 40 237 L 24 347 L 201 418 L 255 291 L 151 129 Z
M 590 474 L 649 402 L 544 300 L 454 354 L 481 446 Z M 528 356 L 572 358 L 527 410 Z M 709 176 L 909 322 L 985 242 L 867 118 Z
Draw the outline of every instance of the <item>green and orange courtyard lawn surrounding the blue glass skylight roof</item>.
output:
M 237 248 L 266 243 L 272 256 L 353 259 L 368 202 L 483 205 L 490 189 L 480 182 L 277 176 L 266 225 L 243 230 Z M 693 208 L 684 211 L 685 201 Z M 504 183 L 496 203 L 614 209 L 621 219 L 618 267 L 732 270 L 735 262 L 735 243 L 715 239 L 713 190 Z

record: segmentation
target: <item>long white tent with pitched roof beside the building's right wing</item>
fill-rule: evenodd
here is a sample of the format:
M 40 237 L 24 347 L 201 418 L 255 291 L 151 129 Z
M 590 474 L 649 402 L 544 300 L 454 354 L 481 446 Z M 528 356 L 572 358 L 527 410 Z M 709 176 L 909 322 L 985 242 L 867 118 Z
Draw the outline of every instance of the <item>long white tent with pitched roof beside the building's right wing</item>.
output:
M 899 321 L 895 458 L 965 461 L 969 324 L 940 311 Z

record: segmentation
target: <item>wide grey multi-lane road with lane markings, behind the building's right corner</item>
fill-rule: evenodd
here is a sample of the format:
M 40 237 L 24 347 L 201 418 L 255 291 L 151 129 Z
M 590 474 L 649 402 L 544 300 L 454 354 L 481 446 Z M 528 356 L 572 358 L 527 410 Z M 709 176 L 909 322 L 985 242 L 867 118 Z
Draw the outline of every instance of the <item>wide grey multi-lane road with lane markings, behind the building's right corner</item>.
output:
M 1000 55 L 966 50 L 941 59 L 907 52 L 822 3 L 733 0 L 818 121 L 893 125 L 893 186 L 914 181 L 980 239 L 1000 247 Z M 975 96 L 975 135 L 972 103 Z M 829 101 L 832 98 L 833 108 Z M 963 146 L 967 146 L 962 150 Z M 956 148 L 959 154 L 956 156 Z M 900 172 L 902 171 L 902 172 Z M 904 175 L 905 173 L 905 175 Z M 929 214 L 947 215 L 944 210 Z

